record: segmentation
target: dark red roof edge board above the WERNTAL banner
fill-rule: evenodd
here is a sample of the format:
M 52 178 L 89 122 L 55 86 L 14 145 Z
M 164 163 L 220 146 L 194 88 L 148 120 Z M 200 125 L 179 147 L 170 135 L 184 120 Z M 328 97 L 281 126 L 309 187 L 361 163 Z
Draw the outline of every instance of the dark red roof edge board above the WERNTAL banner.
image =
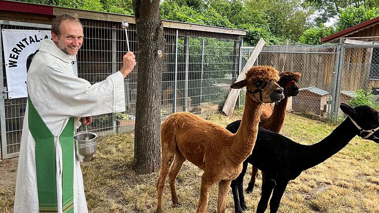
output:
M 54 15 L 52 6 L 0 0 L 0 10 Z

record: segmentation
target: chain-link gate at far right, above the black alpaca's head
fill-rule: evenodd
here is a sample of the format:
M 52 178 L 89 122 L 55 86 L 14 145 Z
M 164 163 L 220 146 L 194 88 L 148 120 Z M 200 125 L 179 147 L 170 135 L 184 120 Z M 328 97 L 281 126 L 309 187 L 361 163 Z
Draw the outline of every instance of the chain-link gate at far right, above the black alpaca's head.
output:
M 333 120 L 343 117 L 340 104 L 351 106 L 379 103 L 379 43 L 368 42 L 379 37 L 350 37 L 340 39 L 339 68 L 335 76 Z M 366 41 L 365 41 L 366 40 Z M 359 97 L 361 101 L 354 101 Z

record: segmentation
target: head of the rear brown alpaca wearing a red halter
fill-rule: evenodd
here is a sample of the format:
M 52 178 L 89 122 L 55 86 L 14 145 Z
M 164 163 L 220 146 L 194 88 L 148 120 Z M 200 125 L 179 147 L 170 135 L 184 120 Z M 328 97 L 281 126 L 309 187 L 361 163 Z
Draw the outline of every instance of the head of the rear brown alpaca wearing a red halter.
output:
M 299 94 L 298 81 L 302 74 L 300 72 L 282 72 L 279 74 L 279 86 L 283 87 L 284 95 L 287 97 Z

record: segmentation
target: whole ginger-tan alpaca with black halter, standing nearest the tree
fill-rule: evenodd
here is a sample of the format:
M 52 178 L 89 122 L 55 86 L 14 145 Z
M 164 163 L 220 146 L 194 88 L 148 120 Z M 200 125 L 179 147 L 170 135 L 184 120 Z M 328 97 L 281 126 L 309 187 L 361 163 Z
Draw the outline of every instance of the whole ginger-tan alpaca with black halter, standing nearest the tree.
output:
M 284 98 L 283 89 L 275 83 L 278 79 L 278 72 L 272 67 L 253 67 L 246 72 L 244 80 L 230 86 L 234 89 L 246 86 L 247 89 L 241 127 L 236 134 L 188 112 L 174 113 L 163 122 L 157 213 L 162 212 L 162 193 L 167 175 L 172 202 L 179 204 L 175 179 L 186 160 L 204 171 L 196 212 L 206 213 L 211 186 L 215 183 L 219 183 L 217 212 L 225 212 L 230 182 L 241 172 L 242 162 L 251 154 L 257 139 L 263 103 Z

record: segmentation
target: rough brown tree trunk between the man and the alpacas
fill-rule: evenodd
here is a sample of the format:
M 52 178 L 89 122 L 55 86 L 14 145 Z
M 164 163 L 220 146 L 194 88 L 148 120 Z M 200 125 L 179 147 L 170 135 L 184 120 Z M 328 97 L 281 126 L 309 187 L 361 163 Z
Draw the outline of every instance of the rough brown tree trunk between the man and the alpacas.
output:
M 150 174 L 160 168 L 160 97 L 163 24 L 159 0 L 133 0 L 137 26 L 138 81 L 133 169 Z

